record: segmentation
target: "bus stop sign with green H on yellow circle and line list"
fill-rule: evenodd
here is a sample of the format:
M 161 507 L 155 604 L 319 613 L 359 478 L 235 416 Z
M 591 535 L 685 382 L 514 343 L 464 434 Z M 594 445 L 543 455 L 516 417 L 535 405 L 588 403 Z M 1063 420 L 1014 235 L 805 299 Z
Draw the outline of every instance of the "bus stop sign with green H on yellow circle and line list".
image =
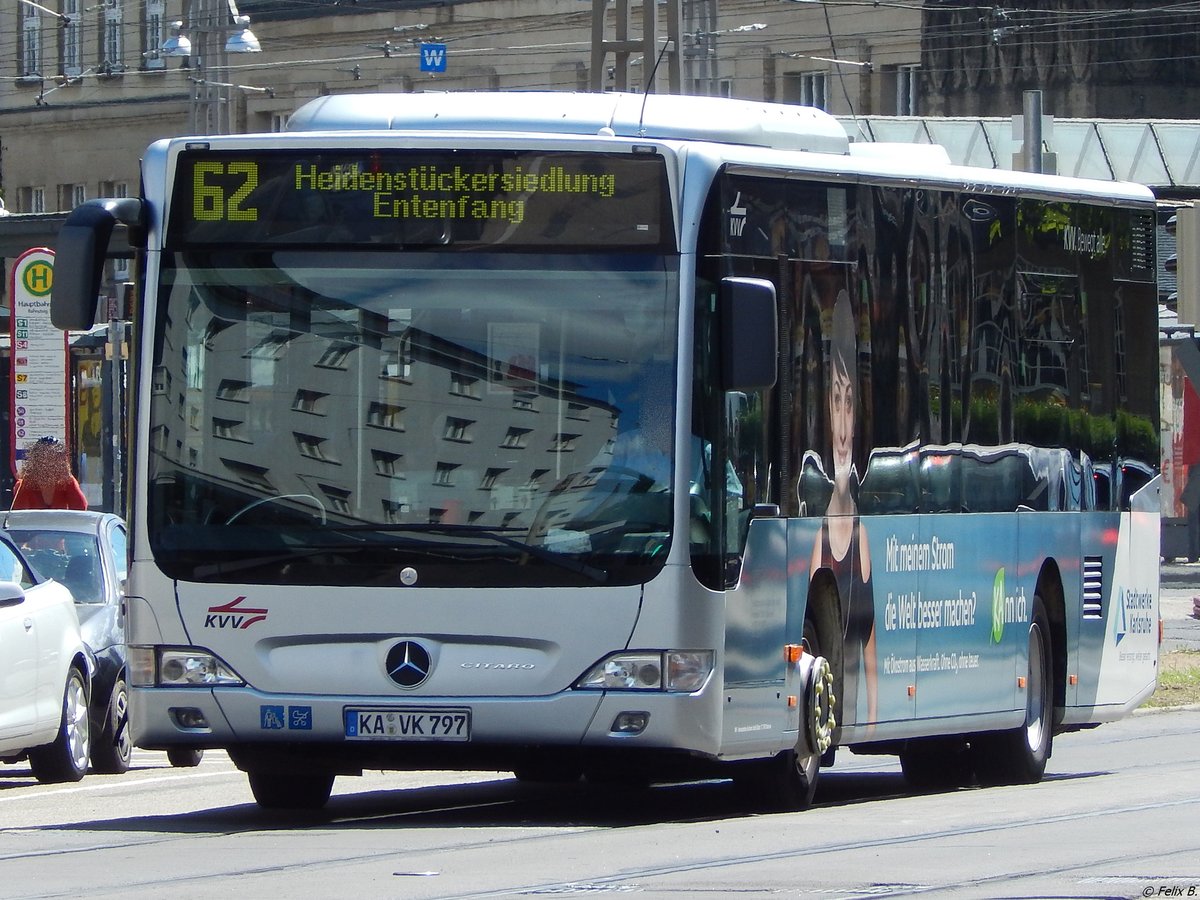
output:
M 50 323 L 54 251 L 26 250 L 12 266 L 12 396 L 10 433 L 13 476 L 38 438 L 71 446 L 67 335 Z

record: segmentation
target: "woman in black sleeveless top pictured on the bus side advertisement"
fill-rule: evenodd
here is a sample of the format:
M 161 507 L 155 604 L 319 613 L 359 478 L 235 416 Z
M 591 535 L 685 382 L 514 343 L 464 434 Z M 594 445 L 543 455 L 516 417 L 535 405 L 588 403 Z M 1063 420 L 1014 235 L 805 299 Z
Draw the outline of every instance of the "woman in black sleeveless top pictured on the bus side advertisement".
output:
M 833 307 L 829 340 L 829 412 L 833 494 L 812 545 L 812 572 L 828 569 L 838 582 L 844 635 L 842 725 L 878 720 L 875 595 L 866 526 L 854 499 L 854 427 L 858 418 L 858 353 L 854 314 L 845 288 Z M 858 715 L 859 682 L 865 719 Z

